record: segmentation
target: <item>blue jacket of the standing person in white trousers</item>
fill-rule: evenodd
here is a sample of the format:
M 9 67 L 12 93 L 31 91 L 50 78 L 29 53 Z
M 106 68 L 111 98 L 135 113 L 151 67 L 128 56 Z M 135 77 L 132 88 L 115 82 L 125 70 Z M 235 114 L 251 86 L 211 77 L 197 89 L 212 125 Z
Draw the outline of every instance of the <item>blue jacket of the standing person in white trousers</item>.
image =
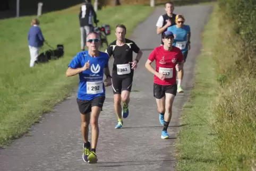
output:
M 44 45 L 44 36 L 42 36 L 42 31 L 37 25 L 33 25 L 29 29 L 28 33 L 29 45 L 33 47 L 41 47 Z

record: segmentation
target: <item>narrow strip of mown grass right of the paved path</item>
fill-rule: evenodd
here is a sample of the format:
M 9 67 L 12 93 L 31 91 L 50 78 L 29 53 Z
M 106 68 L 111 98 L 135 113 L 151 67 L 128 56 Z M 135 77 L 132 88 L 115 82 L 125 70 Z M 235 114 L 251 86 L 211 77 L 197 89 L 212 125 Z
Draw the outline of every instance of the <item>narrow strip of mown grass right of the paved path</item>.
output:
M 194 88 L 184 106 L 178 136 L 178 170 L 216 170 L 217 147 L 212 124 L 215 122 L 211 104 L 216 100 L 217 82 L 214 71 L 214 46 L 217 29 L 216 8 L 204 28 L 202 53 L 197 58 Z

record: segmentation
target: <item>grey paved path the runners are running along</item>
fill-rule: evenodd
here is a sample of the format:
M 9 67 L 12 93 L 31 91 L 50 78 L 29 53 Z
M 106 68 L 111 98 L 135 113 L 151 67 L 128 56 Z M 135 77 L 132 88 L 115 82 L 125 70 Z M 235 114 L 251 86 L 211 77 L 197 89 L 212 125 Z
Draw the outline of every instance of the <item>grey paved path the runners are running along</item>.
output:
M 153 75 L 144 67 L 149 53 L 159 45 L 155 25 L 159 15 L 164 13 L 161 7 L 138 25 L 131 37 L 144 49 L 144 55 L 134 75 L 133 90 L 136 91 L 131 93 L 130 115 L 124 119 L 124 129 L 114 129 L 117 119 L 113 92 L 111 87 L 107 88 L 104 112 L 99 118 L 98 164 L 90 165 L 82 160 L 80 115 L 75 94 L 57 105 L 54 113 L 44 115 L 40 124 L 32 126 L 30 136 L 23 136 L 11 147 L 0 149 L 1 170 L 175 170 L 175 139 L 182 126 L 178 120 L 192 88 L 195 57 L 201 48 L 200 33 L 210 12 L 211 6 L 175 8 L 175 13 L 184 14 L 186 24 L 191 26 L 192 49 L 185 64 L 185 93 L 178 94 L 174 102 L 168 129 L 172 139 L 160 139 L 163 126 L 159 123 L 152 95 Z

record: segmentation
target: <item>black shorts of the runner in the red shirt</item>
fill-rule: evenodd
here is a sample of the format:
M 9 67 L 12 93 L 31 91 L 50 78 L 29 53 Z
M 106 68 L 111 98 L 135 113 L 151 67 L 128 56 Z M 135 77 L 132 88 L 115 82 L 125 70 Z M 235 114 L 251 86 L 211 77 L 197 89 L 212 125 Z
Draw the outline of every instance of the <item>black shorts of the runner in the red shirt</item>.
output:
M 170 93 L 174 96 L 177 94 L 177 84 L 169 85 L 169 86 L 162 86 L 159 84 L 153 84 L 153 96 L 156 99 L 161 99 L 165 96 L 165 93 Z

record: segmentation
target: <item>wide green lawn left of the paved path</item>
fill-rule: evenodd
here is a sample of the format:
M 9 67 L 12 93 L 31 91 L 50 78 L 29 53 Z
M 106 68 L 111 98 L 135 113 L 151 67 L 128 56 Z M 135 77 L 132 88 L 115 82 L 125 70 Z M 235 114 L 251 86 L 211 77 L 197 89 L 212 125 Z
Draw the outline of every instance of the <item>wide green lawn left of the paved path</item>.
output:
M 27 33 L 32 16 L 0 21 L 0 146 L 19 138 L 43 113 L 52 111 L 57 102 L 71 95 L 78 78 L 66 78 L 71 59 L 80 52 L 79 6 L 44 14 L 40 27 L 49 44 L 64 44 L 62 59 L 29 67 Z M 137 11 L 140 11 L 139 13 Z M 98 11 L 101 23 L 112 26 L 109 42 L 115 39 L 116 24 L 128 30 L 146 19 L 153 8 L 149 6 L 118 6 Z M 136 15 L 131 15 L 136 13 Z M 100 23 L 100 24 L 101 24 Z M 49 49 L 47 46 L 44 50 Z

